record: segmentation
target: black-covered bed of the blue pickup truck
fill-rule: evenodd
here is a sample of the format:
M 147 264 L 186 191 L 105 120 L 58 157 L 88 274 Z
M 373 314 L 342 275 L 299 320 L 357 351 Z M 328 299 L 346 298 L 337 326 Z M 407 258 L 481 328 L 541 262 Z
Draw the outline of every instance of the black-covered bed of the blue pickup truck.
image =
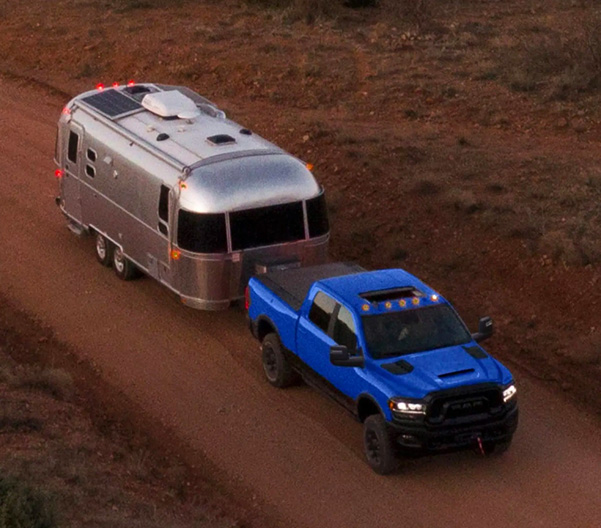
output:
M 330 277 L 340 277 L 341 275 L 360 273 L 362 271 L 366 270 L 352 262 L 334 262 L 307 268 L 272 271 L 270 273 L 256 275 L 255 279 L 265 287 L 269 288 L 282 299 L 282 301 L 289 304 L 290 307 L 297 312 L 300 310 L 300 307 L 314 282 Z

